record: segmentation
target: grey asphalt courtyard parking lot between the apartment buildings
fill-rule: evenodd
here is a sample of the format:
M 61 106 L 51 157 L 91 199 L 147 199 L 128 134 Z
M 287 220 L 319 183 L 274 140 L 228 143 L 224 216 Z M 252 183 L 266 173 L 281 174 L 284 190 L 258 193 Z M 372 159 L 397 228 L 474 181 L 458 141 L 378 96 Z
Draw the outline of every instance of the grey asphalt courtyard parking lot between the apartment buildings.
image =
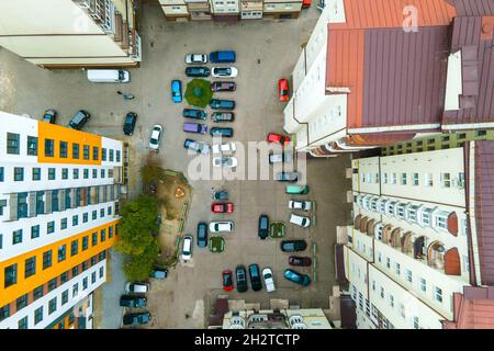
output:
M 183 140 L 190 137 L 211 144 L 212 137 L 186 135 L 182 132 L 181 111 L 187 103 L 173 104 L 170 99 L 170 81 L 180 79 L 183 90 L 189 81 L 184 76 L 183 57 L 190 53 L 210 53 L 215 49 L 236 52 L 238 68 L 236 92 L 221 97 L 236 101 L 235 122 L 223 123 L 235 131 L 236 143 L 265 140 L 270 132 L 283 133 L 283 103 L 278 101 L 279 78 L 290 78 L 290 72 L 302 45 L 315 25 L 317 10 L 303 12 L 299 20 L 252 21 L 234 24 L 213 22 L 166 23 L 157 5 L 143 8 L 141 36 L 143 58 L 139 69 L 132 69 L 128 84 L 93 84 L 87 81 L 81 70 L 48 71 L 19 60 L 0 48 L 0 109 L 13 113 L 38 116 L 45 109 L 54 107 L 59 113 L 59 124 L 66 124 L 79 109 L 91 113 L 91 121 L 85 127 L 108 137 L 126 140 L 131 146 L 130 195 L 141 192 L 138 169 L 148 157 L 162 168 L 187 170 L 190 156 L 183 148 Z M 207 65 L 212 67 L 212 65 Z M 209 78 L 211 79 L 211 78 Z M 212 80 L 212 79 L 211 79 Z M 117 90 L 132 93 L 136 99 L 124 101 Z M 126 112 L 137 113 L 137 126 L 132 137 L 122 134 Z M 211 110 L 207 110 L 209 114 Z M 189 120 L 187 122 L 194 122 Z M 160 124 L 165 128 L 160 151 L 149 155 L 147 144 L 150 127 Z M 218 126 L 220 124 L 215 124 Z M 213 126 L 211 118 L 207 126 Z M 229 141 L 229 140 L 224 140 Z M 270 267 L 274 272 L 277 292 L 228 293 L 231 298 L 244 298 L 269 306 L 270 298 L 288 298 L 301 307 L 328 307 L 328 297 L 335 283 L 334 253 L 335 226 L 347 223 L 350 206 L 346 204 L 346 190 L 350 188 L 345 178 L 347 157 L 307 160 L 308 195 L 290 196 L 284 193 L 285 184 L 277 181 L 190 180 L 193 186 L 192 206 L 186 224 L 186 234 L 195 236 L 199 222 L 234 220 L 235 231 L 225 234 L 225 251 L 212 253 L 207 249 L 193 248 L 192 264 L 177 265 L 165 281 L 151 281 L 148 307 L 153 314 L 150 328 L 203 328 L 209 316 L 209 306 L 222 291 L 221 271 L 235 270 L 237 264 L 258 263 L 262 269 Z M 212 189 L 226 189 L 235 204 L 233 214 L 211 213 Z M 316 203 L 315 226 L 308 229 L 288 224 L 291 211 L 290 199 L 311 200 Z M 305 239 L 308 244 L 304 254 L 317 258 L 317 281 L 308 287 L 299 287 L 285 281 L 282 272 L 288 267 L 289 253 L 280 250 L 280 239 L 261 241 L 257 237 L 258 217 L 267 214 L 271 220 L 287 224 L 284 239 Z M 315 246 L 314 246 L 315 245 Z M 300 252 L 302 253 L 302 252 Z M 117 270 L 113 267 L 112 270 Z M 314 278 L 312 268 L 300 269 Z M 250 284 L 249 284 L 250 286 Z M 123 282 L 113 281 L 104 291 L 122 290 Z M 103 292 L 104 292 L 103 291 Z M 114 310 L 104 299 L 103 313 Z M 115 302 L 117 305 L 117 302 Z M 104 317 L 103 317 L 104 318 Z M 103 324 L 105 327 L 119 327 Z

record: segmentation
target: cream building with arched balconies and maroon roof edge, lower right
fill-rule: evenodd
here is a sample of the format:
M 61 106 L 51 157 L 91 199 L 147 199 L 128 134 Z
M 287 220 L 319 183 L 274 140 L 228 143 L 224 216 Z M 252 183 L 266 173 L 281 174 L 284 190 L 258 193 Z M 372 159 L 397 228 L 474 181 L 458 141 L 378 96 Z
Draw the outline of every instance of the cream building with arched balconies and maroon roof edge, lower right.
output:
M 493 161 L 493 141 L 352 160 L 344 256 L 358 328 L 442 328 L 454 296 L 492 286 Z

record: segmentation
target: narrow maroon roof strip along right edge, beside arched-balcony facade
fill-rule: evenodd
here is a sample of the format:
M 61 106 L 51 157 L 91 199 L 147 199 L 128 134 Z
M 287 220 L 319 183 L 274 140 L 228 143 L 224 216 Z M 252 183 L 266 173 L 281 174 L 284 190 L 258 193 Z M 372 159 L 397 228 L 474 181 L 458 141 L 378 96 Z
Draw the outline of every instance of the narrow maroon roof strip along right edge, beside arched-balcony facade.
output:
M 475 224 L 482 284 L 494 285 L 494 141 L 475 141 Z

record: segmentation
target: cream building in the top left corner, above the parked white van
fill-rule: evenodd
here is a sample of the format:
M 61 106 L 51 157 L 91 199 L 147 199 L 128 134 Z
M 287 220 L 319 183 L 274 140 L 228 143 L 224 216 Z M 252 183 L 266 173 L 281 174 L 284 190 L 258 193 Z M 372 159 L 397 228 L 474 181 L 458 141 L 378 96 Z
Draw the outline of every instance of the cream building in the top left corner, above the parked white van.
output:
M 0 45 L 44 68 L 142 60 L 133 0 L 1 1 Z

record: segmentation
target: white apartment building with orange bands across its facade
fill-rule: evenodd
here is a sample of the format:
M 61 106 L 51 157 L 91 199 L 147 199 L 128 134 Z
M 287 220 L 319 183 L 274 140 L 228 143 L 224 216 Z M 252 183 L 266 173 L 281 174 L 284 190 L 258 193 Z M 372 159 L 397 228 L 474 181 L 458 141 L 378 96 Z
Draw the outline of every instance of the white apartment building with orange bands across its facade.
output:
M 0 118 L 0 328 L 72 328 L 82 317 L 90 327 L 88 296 L 106 280 L 117 235 L 123 144 Z

